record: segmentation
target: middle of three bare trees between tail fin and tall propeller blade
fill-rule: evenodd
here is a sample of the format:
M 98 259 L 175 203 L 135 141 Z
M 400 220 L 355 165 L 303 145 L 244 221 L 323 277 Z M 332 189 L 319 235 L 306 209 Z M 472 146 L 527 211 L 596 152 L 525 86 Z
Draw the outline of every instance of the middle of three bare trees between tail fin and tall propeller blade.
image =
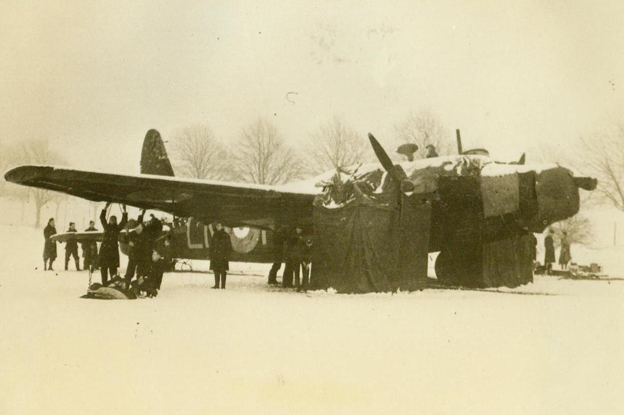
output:
M 246 183 L 282 184 L 303 176 L 295 151 L 262 118 L 243 128 L 230 158 L 233 178 Z

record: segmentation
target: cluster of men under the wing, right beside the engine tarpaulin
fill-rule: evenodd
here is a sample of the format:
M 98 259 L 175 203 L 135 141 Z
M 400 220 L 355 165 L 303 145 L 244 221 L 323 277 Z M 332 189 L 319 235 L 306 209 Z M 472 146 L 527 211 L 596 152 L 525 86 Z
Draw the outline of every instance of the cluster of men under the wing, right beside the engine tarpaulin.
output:
M 276 246 L 275 260 L 269 271 L 268 284 L 278 284 L 277 272 L 281 263 L 285 262 L 282 287 L 307 290 L 310 284 L 312 239 L 303 233 L 302 227 L 296 227 L 294 232 L 285 229 L 275 232 L 273 241 Z M 300 279 L 300 275 L 303 279 Z

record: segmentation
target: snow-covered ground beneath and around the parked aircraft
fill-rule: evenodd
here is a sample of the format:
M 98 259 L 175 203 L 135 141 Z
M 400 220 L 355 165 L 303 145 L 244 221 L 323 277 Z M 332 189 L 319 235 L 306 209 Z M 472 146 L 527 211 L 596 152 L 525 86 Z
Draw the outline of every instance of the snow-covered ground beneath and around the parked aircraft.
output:
M 0 232 L 0 414 L 623 413 L 622 280 L 304 294 L 233 264 L 227 290 L 84 300 L 86 272 L 41 270 L 40 229 Z

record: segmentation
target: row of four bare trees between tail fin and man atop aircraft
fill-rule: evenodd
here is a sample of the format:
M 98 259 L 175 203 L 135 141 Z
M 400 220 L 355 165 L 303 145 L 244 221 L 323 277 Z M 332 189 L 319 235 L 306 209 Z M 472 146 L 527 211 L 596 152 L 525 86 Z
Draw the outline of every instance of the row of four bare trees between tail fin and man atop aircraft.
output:
M 451 151 L 449 130 L 429 111 L 410 114 L 394 130 L 393 144 L 415 143 L 419 146 L 417 157 L 424 156 L 430 144 L 436 146 L 440 155 Z M 228 140 L 227 145 L 207 124 L 182 128 L 169 141 L 175 173 L 198 179 L 282 184 L 359 162 L 376 161 L 366 136 L 338 115 L 299 140 L 285 140 L 275 124 L 258 118 L 243 127 L 234 140 Z

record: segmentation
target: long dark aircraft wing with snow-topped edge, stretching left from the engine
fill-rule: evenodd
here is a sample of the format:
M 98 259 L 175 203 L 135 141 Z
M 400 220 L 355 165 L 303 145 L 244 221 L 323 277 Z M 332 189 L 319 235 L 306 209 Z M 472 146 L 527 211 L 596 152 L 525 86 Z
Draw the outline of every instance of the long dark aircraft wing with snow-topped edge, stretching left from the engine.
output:
M 4 178 L 90 201 L 125 203 L 205 221 L 218 219 L 230 226 L 309 226 L 313 216 L 314 189 L 289 191 L 259 184 L 33 165 L 13 168 Z

